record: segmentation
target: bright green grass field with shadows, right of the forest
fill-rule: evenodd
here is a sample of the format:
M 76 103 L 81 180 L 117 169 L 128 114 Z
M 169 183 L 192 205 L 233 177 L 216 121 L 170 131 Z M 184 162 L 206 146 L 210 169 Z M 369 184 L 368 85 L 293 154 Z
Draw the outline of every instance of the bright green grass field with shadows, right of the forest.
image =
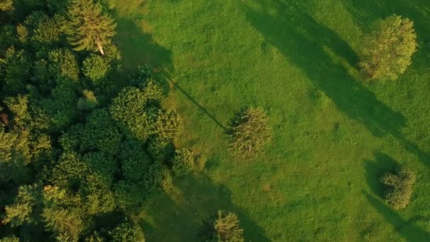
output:
M 364 81 L 362 34 L 397 13 L 419 50 L 396 81 Z M 122 0 L 115 42 L 126 67 L 151 64 L 175 82 L 178 146 L 201 171 L 136 211 L 148 241 L 194 241 L 217 209 L 236 212 L 246 241 L 430 240 L 430 1 Z M 229 122 L 267 110 L 274 139 L 257 159 L 228 151 Z M 394 211 L 379 177 L 417 174 Z

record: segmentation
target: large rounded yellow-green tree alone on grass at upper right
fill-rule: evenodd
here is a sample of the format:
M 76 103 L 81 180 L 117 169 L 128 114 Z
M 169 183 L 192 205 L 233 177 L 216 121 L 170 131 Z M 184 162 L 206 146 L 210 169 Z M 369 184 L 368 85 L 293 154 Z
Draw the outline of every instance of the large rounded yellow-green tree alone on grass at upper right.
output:
M 397 79 L 417 51 L 413 22 L 393 15 L 378 21 L 365 36 L 359 67 L 368 79 Z

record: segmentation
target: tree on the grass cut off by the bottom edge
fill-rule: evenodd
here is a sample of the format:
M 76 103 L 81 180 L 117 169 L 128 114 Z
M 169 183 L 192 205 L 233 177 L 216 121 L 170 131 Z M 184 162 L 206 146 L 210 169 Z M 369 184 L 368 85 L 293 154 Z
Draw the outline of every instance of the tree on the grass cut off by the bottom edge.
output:
M 243 242 L 243 229 L 240 229 L 238 215 L 219 210 L 201 234 L 203 241 Z

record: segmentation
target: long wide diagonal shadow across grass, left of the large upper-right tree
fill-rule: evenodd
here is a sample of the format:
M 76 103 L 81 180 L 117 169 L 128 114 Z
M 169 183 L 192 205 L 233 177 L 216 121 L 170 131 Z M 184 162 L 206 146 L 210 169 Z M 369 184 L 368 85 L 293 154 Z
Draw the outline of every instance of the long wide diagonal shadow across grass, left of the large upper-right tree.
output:
M 342 113 L 365 125 L 377 137 L 392 135 L 429 165 L 429 155 L 402 135 L 405 117 L 378 100 L 351 74 L 354 70 L 333 57 L 335 53 L 350 66 L 356 64 L 356 54 L 347 42 L 295 2 L 278 1 L 261 6 L 262 11 L 245 6 L 250 24 L 286 59 L 301 68 Z M 276 14 L 269 14 L 275 10 Z

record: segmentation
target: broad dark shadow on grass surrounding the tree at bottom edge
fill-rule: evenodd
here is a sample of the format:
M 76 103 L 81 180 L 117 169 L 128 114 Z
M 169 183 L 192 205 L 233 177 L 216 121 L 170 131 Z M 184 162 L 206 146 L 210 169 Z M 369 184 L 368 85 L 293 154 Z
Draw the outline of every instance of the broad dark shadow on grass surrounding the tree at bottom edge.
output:
M 151 197 L 142 224 L 148 241 L 199 241 L 207 220 L 219 209 L 238 214 L 245 241 L 269 241 L 247 212 L 231 202 L 231 191 L 206 175 L 189 175 L 168 194 Z

